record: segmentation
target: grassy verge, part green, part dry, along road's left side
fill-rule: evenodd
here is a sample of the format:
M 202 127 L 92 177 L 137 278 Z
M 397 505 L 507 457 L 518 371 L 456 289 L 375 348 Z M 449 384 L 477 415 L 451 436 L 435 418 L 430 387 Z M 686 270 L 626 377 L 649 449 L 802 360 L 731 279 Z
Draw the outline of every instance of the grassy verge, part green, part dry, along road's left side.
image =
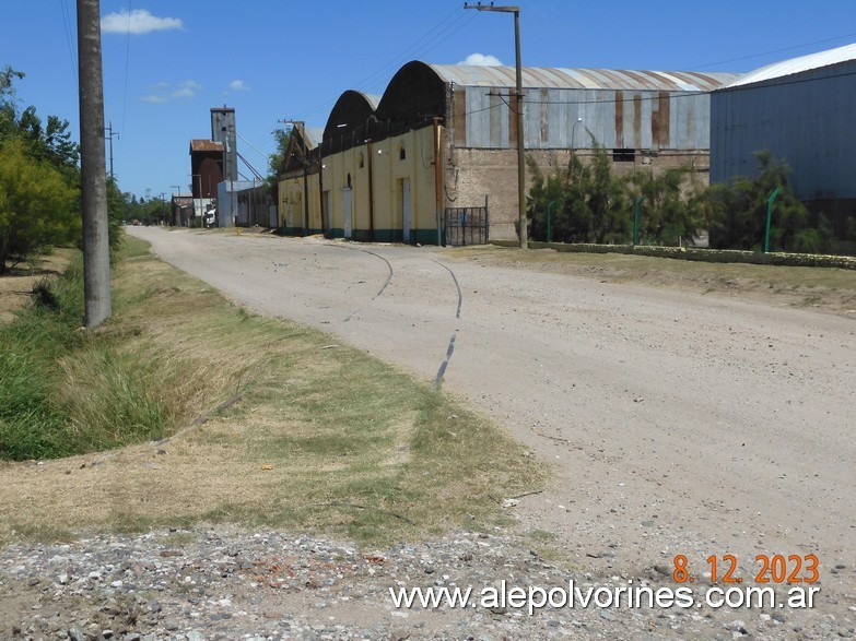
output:
M 0 463 L 0 541 L 214 521 L 380 545 L 502 523 L 504 497 L 543 484 L 519 444 L 448 394 L 247 313 L 134 239 L 125 252 L 103 328 L 78 332 L 77 312 L 42 306 L 1 330 L 32 346 L 22 371 L 37 376 L 16 384 L 40 385 L 44 423 L 26 407 L 3 420 L 19 413 L 31 437 L 74 437 L 81 453 Z

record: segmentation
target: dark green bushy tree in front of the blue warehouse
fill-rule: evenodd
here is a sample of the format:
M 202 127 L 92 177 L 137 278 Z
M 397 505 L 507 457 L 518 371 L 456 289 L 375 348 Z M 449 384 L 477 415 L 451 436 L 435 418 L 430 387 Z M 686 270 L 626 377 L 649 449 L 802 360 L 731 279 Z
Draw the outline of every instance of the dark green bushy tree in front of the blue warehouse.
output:
M 757 174 L 738 176 L 728 183 L 710 189 L 711 247 L 715 249 L 759 250 L 763 247 L 766 200 L 776 188 L 770 228 L 772 251 L 823 252 L 832 248 L 832 228 L 821 216 L 809 224 L 809 212 L 790 188 L 790 168 L 769 151 L 754 153 Z

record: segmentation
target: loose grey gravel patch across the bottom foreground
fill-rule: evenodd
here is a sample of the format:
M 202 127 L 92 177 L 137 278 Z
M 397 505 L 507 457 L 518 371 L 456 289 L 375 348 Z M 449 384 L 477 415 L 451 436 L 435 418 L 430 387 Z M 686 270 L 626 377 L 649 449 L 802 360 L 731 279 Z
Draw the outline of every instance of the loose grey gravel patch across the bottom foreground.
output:
M 817 610 L 401 608 L 390 587 L 676 587 L 672 568 L 600 577 L 547 562 L 519 538 L 457 532 L 365 551 L 231 526 L 13 545 L 0 556 L 0 637 L 89 641 L 232 639 L 841 639 L 853 607 Z M 839 572 L 851 572 L 839 568 Z M 852 578 L 851 578 L 852 580 Z M 822 583 L 821 583 L 822 586 Z M 701 592 L 704 586 L 697 586 Z M 779 590 L 782 592 L 782 590 Z M 826 604 L 829 605 L 829 604 Z M 839 604 L 842 605 L 842 604 Z M 841 614 L 841 613 L 844 614 Z

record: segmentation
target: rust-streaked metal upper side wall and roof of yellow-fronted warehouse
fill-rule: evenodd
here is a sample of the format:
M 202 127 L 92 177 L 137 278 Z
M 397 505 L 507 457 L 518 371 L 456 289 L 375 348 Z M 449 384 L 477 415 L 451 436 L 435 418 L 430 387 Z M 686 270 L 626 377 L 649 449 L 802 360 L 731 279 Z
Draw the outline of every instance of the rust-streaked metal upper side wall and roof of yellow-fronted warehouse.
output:
M 515 70 L 430 66 L 450 83 L 465 120 L 464 146 L 513 149 Z M 738 78 L 603 69 L 523 70 L 525 145 L 529 150 L 707 150 L 708 92 Z M 456 114 L 459 116 L 459 114 Z M 583 119 L 579 122 L 579 118 Z

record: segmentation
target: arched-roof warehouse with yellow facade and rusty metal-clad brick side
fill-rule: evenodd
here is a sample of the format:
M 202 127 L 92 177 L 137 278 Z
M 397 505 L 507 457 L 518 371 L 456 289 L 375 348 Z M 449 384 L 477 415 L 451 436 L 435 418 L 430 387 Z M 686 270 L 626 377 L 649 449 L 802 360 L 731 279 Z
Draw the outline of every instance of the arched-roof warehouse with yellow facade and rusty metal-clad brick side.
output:
M 338 237 L 439 244 L 466 240 L 464 226 L 470 241 L 514 239 L 518 135 L 548 173 L 597 144 L 619 169 L 685 164 L 706 182 L 710 92 L 737 78 L 524 68 L 518 132 L 514 68 L 409 62 L 379 102 L 342 94 L 309 209 Z

